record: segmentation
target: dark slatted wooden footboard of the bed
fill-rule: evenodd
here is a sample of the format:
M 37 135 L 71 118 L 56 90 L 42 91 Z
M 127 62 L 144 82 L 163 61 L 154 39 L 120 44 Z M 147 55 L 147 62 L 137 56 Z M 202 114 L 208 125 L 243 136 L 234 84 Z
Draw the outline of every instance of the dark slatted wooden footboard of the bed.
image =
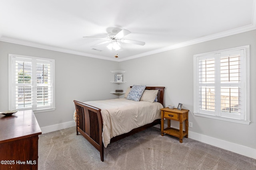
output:
M 98 151 L 100 159 L 104 161 L 104 145 L 102 142 L 101 109 L 74 100 L 76 106 L 76 135 L 84 136 Z

